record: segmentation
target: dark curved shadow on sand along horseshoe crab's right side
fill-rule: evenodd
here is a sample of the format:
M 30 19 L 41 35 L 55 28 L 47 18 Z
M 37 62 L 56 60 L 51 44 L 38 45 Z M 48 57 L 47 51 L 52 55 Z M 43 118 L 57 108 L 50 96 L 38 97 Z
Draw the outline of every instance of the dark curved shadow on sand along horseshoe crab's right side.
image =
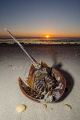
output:
M 63 76 L 65 77 L 66 79 L 66 88 L 65 88 L 65 91 L 64 91 L 64 94 L 63 96 L 57 101 L 57 102 L 61 102 L 63 101 L 69 94 L 70 92 L 72 91 L 73 89 L 73 86 L 74 86 L 74 80 L 73 80 L 73 77 L 66 71 L 62 70 L 61 67 L 62 67 L 62 63 L 59 63 L 57 65 L 54 65 L 52 66 L 53 68 L 57 69 L 58 71 L 60 71 Z

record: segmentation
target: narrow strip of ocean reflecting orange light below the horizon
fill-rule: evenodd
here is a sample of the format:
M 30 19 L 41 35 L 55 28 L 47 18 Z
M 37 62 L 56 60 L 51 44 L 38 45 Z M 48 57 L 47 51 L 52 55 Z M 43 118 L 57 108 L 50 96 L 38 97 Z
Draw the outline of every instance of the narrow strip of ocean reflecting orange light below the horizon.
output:
M 80 44 L 80 37 L 16 37 L 22 44 Z M 0 38 L 0 44 L 16 44 L 10 37 Z

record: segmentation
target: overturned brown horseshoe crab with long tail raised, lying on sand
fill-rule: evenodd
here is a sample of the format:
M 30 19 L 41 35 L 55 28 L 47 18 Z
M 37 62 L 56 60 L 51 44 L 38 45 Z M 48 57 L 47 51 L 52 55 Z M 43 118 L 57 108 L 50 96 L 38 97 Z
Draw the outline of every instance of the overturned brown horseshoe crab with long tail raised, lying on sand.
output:
M 23 82 L 19 77 L 18 83 L 22 93 L 35 102 L 58 101 L 63 95 L 66 87 L 66 80 L 62 73 L 55 68 L 50 68 L 45 62 L 38 63 L 24 47 L 6 30 L 17 42 L 27 56 L 35 63 L 29 70 L 28 79 Z

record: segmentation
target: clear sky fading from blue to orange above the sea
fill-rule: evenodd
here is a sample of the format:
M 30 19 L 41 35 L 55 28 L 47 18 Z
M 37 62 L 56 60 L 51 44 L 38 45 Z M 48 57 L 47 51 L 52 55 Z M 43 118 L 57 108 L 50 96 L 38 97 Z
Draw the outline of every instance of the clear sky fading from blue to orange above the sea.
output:
M 80 37 L 80 0 L 0 0 L 0 37 Z

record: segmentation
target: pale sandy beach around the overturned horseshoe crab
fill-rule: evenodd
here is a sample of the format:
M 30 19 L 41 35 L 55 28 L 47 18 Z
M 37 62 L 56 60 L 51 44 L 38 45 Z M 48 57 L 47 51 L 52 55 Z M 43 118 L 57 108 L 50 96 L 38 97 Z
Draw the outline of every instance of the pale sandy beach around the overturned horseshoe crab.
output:
M 24 81 L 32 61 L 21 48 L 0 44 L 0 120 L 80 120 L 80 45 L 24 45 L 38 62 L 59 70 L 66 78 L 67 88 L 56 103 L 36 103 L 20 91 L 18 78 Z M 22 113 L 16 112 L 20 104 L 27 106 Z M 72 109 L 66 108 L 68 104 Z

